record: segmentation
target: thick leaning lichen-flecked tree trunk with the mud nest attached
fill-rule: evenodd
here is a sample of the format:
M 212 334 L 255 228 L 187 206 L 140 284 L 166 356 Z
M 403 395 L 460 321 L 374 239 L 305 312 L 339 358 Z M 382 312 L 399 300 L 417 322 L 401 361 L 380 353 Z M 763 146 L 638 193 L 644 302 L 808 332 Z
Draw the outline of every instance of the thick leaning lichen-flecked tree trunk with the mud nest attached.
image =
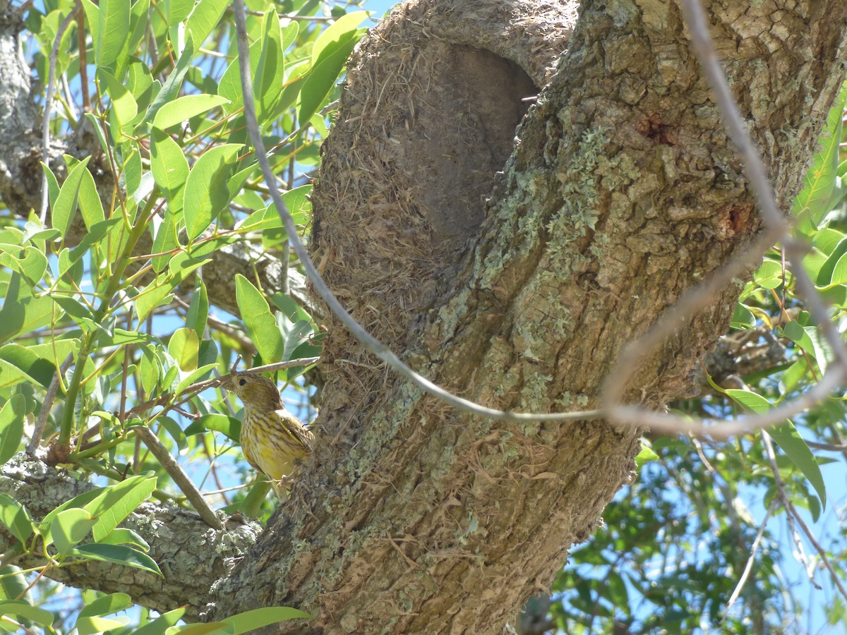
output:
M 847 3 L 753 5 L 706 11 L 787 210 L 841 84 Z M 396 8 L 354 53 L 314 194 L 313 256 L 359 322 L 506 410 L 598 406 L 622 347 L 761 229 L 677 3 L 584 2 L 572 27 L 564 3 Z M 684 394 L 741 285 L 667 334 L 632 400 Z M 641 430 L 471 417 L 328 326 L 318 448 L 215 616 L 496 632 L 633 478 Z

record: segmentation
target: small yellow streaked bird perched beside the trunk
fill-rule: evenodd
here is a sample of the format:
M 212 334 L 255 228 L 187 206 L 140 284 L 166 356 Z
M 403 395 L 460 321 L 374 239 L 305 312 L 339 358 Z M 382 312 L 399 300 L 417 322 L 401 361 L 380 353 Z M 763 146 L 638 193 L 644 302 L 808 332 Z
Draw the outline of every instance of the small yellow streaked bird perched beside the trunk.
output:
M 282 481 L 296 463 L 312 452 L 313 433 L 285 410 L 280 390 L 270 379 L 255 373 L 235 373 L 222 385 L 244 403 L 241 450 L 247 461 L 268 477 L 274 491 L 285 500 Z

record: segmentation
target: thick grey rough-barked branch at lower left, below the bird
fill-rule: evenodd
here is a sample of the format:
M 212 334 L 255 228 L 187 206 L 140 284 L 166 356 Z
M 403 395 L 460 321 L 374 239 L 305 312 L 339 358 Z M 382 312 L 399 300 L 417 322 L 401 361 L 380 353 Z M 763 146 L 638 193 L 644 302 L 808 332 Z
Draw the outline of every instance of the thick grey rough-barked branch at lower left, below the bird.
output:
M 15 456 L 0 472 L 0 494 L 8 494 L 30 511 L 37 523 L 58 505 L 94 489 L 41 461 Z M 193 511 L 144 503 L 120 527 L 132 529 L 150 545 L 148 555 L 163 576 L 129 566 L 91 560 L 85 564 L 50 568 L 47 577 L 78 588 L 129 594 L 134 602 L 164 612 L 186 607 L 185 619 L 196 621 L 209 588 L 226 577 L 244 556 L 261 529 L 255 523 L 230 518 L 224 531 L 215 531 Z M 0 528 L 0 553 L 8 558 L 18 541 Z M 36 555 L 20 555 L 14 564 L 44 566 Z

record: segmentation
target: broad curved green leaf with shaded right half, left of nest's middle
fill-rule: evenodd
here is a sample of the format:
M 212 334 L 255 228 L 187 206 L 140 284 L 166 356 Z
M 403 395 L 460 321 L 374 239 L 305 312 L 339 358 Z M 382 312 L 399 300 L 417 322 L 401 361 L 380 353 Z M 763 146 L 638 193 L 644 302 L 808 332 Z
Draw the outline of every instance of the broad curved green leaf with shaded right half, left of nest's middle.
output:
M 230 203 L 228 181 L 235 172 L 235 157 L 243 146 L 227 143 L 215 146 L 194 163 L 185 180 L 182 210 L 185 231 L 191 240 L 205 231 Z

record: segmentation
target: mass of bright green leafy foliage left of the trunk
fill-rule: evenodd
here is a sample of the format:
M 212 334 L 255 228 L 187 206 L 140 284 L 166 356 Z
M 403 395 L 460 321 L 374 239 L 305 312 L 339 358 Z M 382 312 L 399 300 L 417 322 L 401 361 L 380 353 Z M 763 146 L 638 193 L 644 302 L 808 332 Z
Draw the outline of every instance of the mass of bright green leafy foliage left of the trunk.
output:
M 355 3 L 247 4 L 258 120 L 285 202 L 306 232 L 309 174 L 368 14 Z M 311 309 L 288 296 L 268 304 L 256 274 L 239 276 L 243 319 L 231 317 L 213 306 L 203 276 L 227 248 L 254 263 L 287 254 L 246 139 L 231 17 L 227 0 L 47 0 L 26 15 L 33 73 L 42 86 L 58 86 L 51 135 L 82 128 L 99 141 L 82 160 L 42 164 L 46 218 L 33 210 L 0 224 L 0 461 L 24 449 L 38 422 L 48 462 L 102 485 L 41 519 L 0 496 L 0 522 L 18 553 L 41 555 L 45 567 L 102 560 L 161 575 L 149 545 L 120 524 L 151 497 L 190 505 L 141 428 L 180 456 L 214 506 L 255 513 L 263 505 L 258 513 L 267 516 L 272 501 L 245 490 L 254 478 L 233 406 L 208 381 L 236 359 L 294 362 L 276 378 L 308 414 L 308 362 L 296 361 L 319 353 Z M 56 396 L 45 400 L 52 383 Z M 254 488 L 265 493 L 267 483 Z M 132 623 L 115 619 L 132 605 L 125 594 L 86 592 L 67 623 L 43 608 L 55 585 L 39 583 L 42 601 L 33 599 L 29 580 L 41 576 L 19 570 L 12 556 L 0 573 L 2 627 L 196 630 L 178 626 L 184 610 L 153 617 L 136 609 Z M 202 632 L 303 616 L 268 607 Z

